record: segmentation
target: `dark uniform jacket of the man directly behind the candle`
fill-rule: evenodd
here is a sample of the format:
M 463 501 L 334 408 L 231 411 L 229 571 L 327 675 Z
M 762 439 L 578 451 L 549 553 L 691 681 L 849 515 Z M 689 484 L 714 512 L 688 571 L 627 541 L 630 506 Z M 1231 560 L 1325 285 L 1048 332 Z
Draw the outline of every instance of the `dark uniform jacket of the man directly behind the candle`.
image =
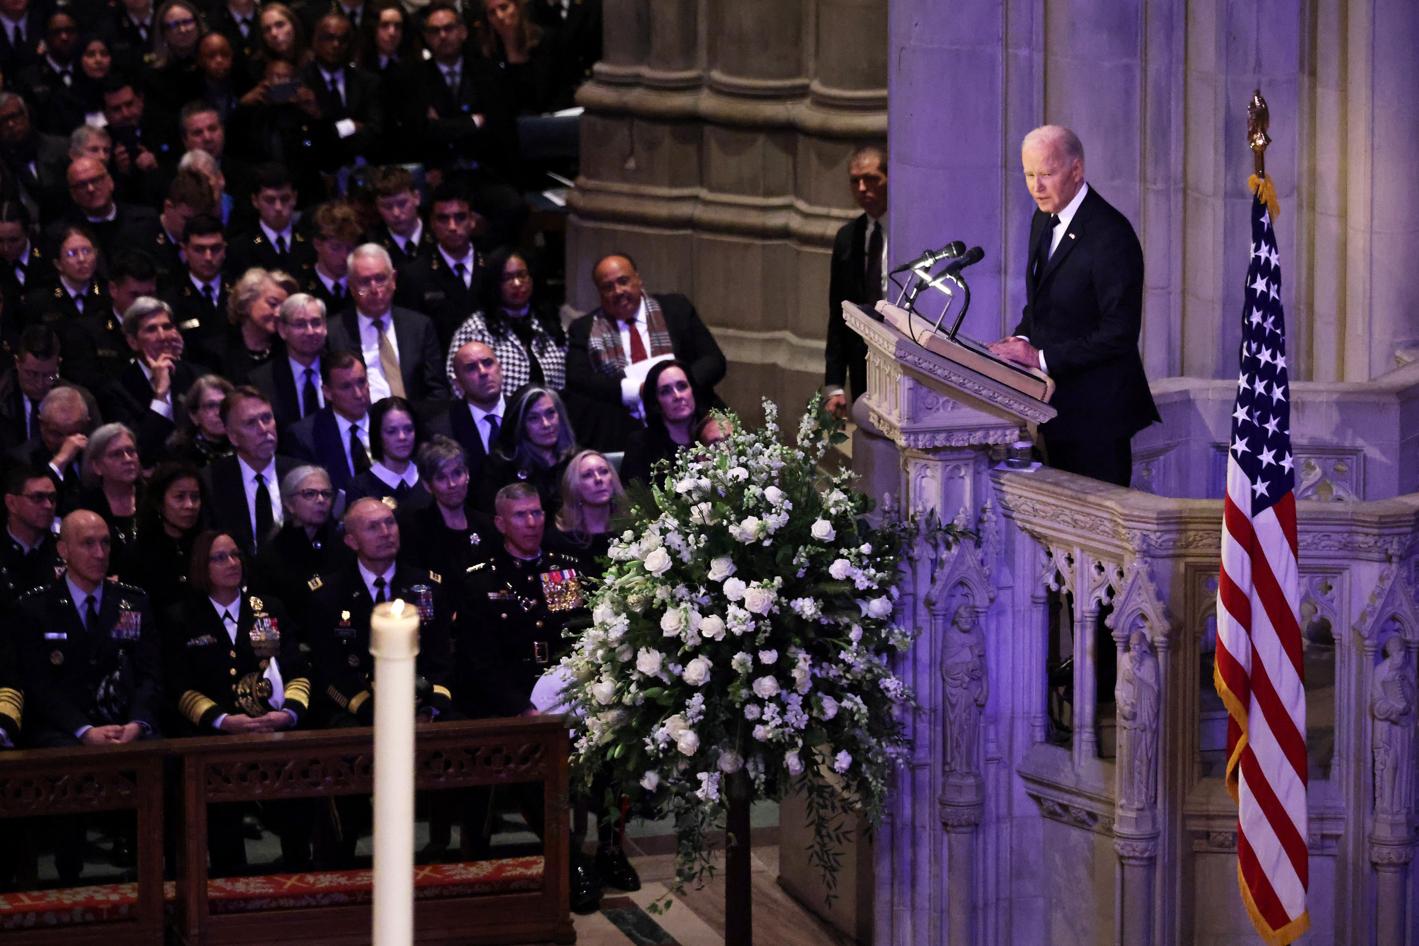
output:
M 444 590 L 443 581 L 441 574 L 396 564 L 390 591 L 392 600 L 402 597 L 433 611 L 419 625 L 416 672 L 433 686 L 427 702 L 440 715 L 453 711 L 448 686 L 454 675 L 453 648 L 448 644 L 454 606 L 450 604 L 451 596 Z M 359 566 L 352 562 L 339 572 L 314 579 L 311 591 L 305 637 L 315 671 L 312 689 L 318 698 L 333 701 L 366 726 L 372 725 L 375 701 L 370 684 L 375 660 L 369 652 L 369 617 L 375 610 L 375 600 L 369 596 Z M 349 613 L 348 618 L 342 617 L 345 613 Z

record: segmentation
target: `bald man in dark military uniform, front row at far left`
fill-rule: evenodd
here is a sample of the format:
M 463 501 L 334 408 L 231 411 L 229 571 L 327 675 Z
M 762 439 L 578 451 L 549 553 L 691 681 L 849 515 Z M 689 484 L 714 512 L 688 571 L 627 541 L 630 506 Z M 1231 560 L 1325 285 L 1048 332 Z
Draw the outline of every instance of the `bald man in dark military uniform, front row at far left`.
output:
M 65 574 L 13 608 L 11 633 L 26 685 L 26 742 L 34 747 L 111 746 L 156 739 L 162 703 L 158 628 L 148 594 L 108 580 L 108 523 L 87 509 L 60 526 Z M 84 868 L 85 818 L 55 825 L 55 869 L 65 886 Z M 123 831 L 115 847 L 131 851 Z

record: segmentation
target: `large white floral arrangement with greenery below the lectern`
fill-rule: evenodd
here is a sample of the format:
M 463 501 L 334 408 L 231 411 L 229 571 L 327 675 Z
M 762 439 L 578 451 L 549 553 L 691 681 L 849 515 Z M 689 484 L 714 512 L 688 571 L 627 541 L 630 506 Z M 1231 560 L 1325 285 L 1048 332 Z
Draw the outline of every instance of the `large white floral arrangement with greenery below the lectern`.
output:
M 819 469 L 840 421 L 810 406 L 790 447 L 763 410 L 762 430 L 725 416 L 728 440 L 681 450 L 631 494 L 592 627 L 563 660 L 585 713 L 573 764 L 587 784 L 609 769 L 612 798 L 675 818 L 680 885 L 708 869 L 731 789 L 803 789 L 832 891 L 841 816 L 878 823 L 910 749 L 911 695 L 890 665 L 912 641 L 894 616 L 917 523 L 888 512 L 868 526 L 853 474 Z

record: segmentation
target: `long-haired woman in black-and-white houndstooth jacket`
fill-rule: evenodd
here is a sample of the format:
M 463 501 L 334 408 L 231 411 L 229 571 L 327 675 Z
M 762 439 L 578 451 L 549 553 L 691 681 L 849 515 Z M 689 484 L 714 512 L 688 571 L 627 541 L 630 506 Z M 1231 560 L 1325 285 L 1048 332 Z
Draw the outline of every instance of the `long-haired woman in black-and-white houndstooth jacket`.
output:
M 566 332 L 555 305 L 534 298 L 535 274 L 526 257 L 511 247 L 488 254 L 478 289 L 480 308 L 458 326 L 448 346 L 446 369 L 468 342 L 482 342 L 502 365 L 502 394 L 511 399 L 524 384 L 555 391 L 566 387 Z

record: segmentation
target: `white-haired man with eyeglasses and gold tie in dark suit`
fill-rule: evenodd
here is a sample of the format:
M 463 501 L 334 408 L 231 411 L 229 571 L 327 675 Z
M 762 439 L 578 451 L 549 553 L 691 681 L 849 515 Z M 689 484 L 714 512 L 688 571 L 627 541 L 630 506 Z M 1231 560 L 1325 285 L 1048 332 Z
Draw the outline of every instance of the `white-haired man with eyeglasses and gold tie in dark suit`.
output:
M 438 335 L 426 315 L 393 305 L 394 267 L 383 247 L 366 243 L 350 254 L 355 309 L 331 322 L 331 350 L 359 352 L 372 401 L 404 397 L 414 404 L 448 400 Z

